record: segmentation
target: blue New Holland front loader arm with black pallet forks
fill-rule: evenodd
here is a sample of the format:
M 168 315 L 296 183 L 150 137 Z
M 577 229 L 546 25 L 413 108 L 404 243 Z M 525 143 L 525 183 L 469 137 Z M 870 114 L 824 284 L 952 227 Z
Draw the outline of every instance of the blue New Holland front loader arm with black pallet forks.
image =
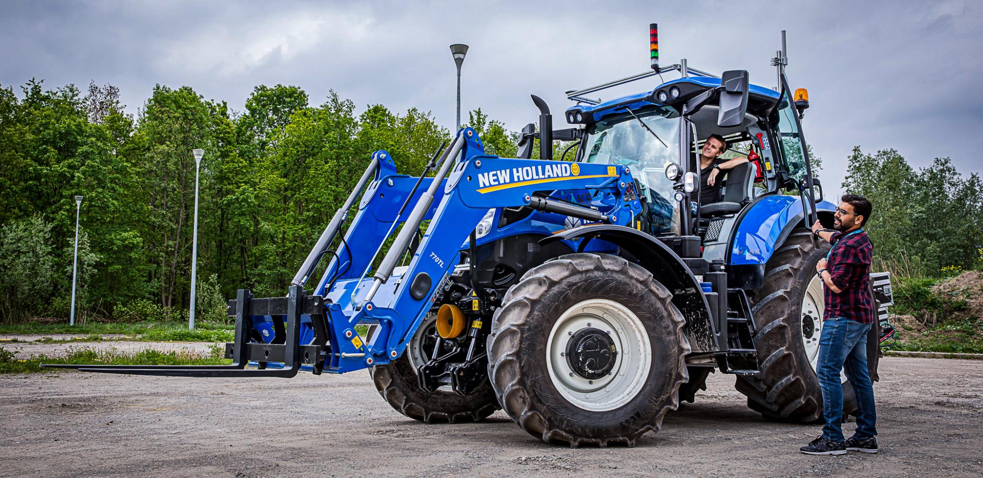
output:
M 418 178 L 396 174 L 393 164 L 385 151 L 373 155 L 369 170 L 346 202 L 354 204 L 351 201 L 364 186 L 359 210 L 332 251 L 314 294 L 294 284 L 286 297 L 254 298 L 241 290 L 229 301 L 229 314 L 237 318 L 236 343 L 226 345 L 226 355 L 235 358 L 232 365 L 71 368 L 134 375 L 292 377 L 302 364 L 311 364 L 315 373 L 345 373 L 385 364 L 404 352 L 431 311 L 437 289 L 461 262 L 462 244 L 489 209 L 531 207 L 625 227 L 642 211 L 638 197 L 633 192 L 625 194 L 634 184 L 627 167 L 498 158 L 485 154 L 471 128 L 458 132 L 440 158 L 434 178 L 418 182 Z M 366 186 L 370 176 L 373 182 Z M 535 194 L 556 189 L 583 189 L 610 206 L 577 207 Z M 399 213 L 407 199 L 412 208 Z M 298 272 L 302 282 L 339 234 L 347 212 L 339 209 L 318 239 Z M 394 273 L 426 220 L 430 224 L 408 266 Z M 399 223 L 404 223 L 402 229 L 375 274 L 366 277 Z M 378 327 L 368 343 L 355 332 L 360 324 Z M 260 370 L 245 369 L 250 362 L 258 362 Z M 267 362 L 282 362 L 283 368 L 265 369 Z

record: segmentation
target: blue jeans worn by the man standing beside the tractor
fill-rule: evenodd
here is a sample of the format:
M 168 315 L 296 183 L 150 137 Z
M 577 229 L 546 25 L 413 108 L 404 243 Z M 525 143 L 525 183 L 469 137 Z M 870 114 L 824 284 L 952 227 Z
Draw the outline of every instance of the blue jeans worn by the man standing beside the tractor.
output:
M 877 435 L 877 412 L 874 409 L 874 386 L 867 370 L 867 333 L 871 324 L 861 324 L 845 317 L 834 317 L 823 322 L 819 338 L 819 362 L 816 375 L 823 389 L 823 436 L 837 442 L 843 441 L 840 423 L 843 418 L 843 389 L 839 371 L 853 386 L 857 399 L 857 438 Z

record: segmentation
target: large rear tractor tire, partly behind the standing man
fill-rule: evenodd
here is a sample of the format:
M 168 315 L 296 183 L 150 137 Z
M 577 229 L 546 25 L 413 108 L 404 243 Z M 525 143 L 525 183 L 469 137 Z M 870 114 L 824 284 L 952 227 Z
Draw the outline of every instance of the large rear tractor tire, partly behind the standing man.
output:
M 759 373 L 738 376 L 734 387 L 747 396 L 751 409 L 766 418 L 799 423 L 823 418 L 816 363 L 824 302 L 816 264 L 829 249 L 829 243 L 814 240 L 809 230 L 793 231 L 766 264 L 764 286 L 750 294 Z M 875 321 L 867 336 L 872 378 L 877 376 L 877 329 Z M 845 376 L 842 387 L 843 412 L 855 414 L 856 398 Z

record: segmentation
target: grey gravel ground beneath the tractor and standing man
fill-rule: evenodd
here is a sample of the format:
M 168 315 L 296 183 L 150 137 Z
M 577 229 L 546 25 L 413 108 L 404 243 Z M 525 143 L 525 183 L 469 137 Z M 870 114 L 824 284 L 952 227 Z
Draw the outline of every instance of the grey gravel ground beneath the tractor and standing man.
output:
M 980 365 L 885 357 L 875 385 L 882 451 L 842 456 L 800 454 L 820 427 L 763 420 L 721 374 L 638 447 L 580 450 L 543 444 L 500 411 L 477 424 L 417 423 L 366 372 L 5 375 L 0 476 L 980 477 Z

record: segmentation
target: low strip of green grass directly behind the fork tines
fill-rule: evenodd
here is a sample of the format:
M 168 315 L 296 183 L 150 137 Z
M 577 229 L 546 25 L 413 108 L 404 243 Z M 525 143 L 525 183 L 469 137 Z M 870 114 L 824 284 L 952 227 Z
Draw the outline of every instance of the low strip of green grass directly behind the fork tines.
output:
M 213 345 L 205 355 L 188 350 L 167 352 L 141 350 L 129 353 L 116 349 L 76 348 L 60 357 L 41 354 L 31 355 L 27 359 L 17 359 L 15 350 L 0 346 L 0 373 L 37 373 L 57 370 L 41 368 L 42 363 L 106 365 L 227 365 L 232 363 L 232 360 L 223 358 L 224 355 L 225 350 L 222 346 Z

